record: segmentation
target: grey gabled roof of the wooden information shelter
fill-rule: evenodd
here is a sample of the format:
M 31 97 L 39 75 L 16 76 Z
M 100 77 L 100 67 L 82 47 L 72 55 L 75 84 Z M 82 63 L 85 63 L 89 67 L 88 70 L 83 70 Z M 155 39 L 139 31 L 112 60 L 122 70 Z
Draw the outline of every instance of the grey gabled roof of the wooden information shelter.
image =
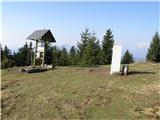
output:
M 44 40 L 49 42 L 56 42 L 54 36 L 50 30 L 36 30 L 30 36 L 27 37 L 29 40 Z

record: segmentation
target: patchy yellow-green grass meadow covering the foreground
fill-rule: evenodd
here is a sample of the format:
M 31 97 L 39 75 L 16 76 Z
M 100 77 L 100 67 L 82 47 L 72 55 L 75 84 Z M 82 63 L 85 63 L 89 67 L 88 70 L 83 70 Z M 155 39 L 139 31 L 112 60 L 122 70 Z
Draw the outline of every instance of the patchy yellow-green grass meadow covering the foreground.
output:
M 2 119 L 160 119 L 160 64 L 56 67 L 42 73 L 2 70 Z

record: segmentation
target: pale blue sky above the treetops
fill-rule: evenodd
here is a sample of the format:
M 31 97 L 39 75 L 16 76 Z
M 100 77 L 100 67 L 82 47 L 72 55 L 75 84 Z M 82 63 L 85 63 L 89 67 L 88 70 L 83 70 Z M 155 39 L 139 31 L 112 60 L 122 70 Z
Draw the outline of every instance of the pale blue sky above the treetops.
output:
M 17 50 L 36 29 L 51 29 L 59 47 L 80 41 L 88 27 L 102 41 L 108 28 L 123 52 L 145 58 L 159 25 L 158 2 L 3 2 L 2 45 Z

